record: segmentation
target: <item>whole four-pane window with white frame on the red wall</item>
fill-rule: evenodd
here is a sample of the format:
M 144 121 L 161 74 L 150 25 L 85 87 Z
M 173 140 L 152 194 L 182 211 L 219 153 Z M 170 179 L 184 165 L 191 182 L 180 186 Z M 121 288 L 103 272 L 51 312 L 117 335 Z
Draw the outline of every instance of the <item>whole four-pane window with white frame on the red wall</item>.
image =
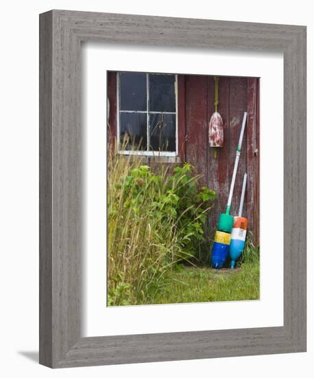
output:
M 119 152 L 175 156 L 178 153 L 177 76 L 117 73 Z

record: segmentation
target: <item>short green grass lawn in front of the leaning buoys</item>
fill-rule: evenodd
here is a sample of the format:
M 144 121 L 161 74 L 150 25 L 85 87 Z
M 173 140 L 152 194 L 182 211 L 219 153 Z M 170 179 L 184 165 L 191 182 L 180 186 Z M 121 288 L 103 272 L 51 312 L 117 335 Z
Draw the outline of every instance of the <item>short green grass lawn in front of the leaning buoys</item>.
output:
M 259 261 L 234 270 L 182 266 L 171 276 L 156 291 L 154 304 L 259 299 Z

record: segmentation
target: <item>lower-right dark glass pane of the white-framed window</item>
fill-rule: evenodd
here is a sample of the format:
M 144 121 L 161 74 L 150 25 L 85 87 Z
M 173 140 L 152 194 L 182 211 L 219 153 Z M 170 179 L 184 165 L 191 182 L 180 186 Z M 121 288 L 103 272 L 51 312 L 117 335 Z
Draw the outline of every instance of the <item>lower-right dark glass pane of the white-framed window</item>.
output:
M 149 150 L 176 151 L 176 114 L 149 114 Z

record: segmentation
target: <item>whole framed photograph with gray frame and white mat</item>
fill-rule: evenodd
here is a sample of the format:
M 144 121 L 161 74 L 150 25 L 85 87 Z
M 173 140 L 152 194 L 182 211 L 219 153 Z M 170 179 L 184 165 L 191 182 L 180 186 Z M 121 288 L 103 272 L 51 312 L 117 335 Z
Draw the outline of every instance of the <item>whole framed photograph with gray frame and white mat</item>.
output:
M 40 364 L 306 351 L 306 27 L 40 14 Z

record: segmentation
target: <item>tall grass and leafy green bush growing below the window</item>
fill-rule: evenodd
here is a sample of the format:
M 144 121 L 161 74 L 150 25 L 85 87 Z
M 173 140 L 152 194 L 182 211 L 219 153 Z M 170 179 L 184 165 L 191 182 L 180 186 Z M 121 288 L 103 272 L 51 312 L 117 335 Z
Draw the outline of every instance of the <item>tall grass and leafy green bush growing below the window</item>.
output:
M 141 157 L 108 154 L 109 306 L 154 302 L 166 273 L 193 256 L 191 241 L 202 238 L 214 193 L 196 191 L 198 177 L 186 174 L 189 167 L 173 176 L 160 166 L 153 175 Z M 196 204 L 182 201 L 189 190 L 195 192 L 186 198 Z

